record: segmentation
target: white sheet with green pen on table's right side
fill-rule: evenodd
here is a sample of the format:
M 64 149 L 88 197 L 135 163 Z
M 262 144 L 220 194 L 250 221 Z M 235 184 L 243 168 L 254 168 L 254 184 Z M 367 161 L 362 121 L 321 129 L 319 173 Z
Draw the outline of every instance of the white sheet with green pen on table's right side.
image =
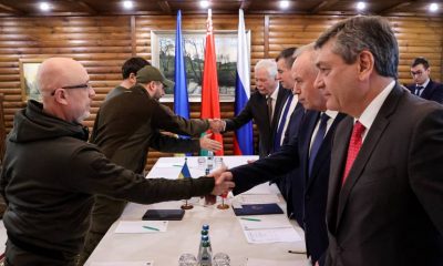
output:
M 241 216 L 238 218 L 241 228 L 248 229 L 272 229 L 272 228 L 292 228 L 285 215 L 254 215 Z

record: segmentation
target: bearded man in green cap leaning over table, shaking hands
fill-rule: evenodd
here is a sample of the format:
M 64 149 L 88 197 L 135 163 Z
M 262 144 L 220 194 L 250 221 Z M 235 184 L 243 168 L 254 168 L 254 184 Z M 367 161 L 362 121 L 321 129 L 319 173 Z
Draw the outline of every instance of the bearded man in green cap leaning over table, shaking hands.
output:
M 200 147 L 217 151 L 222 144 L 208 139 L 176 139 L 159 130 L 196 135 L 209 129 L 215 121 L 185 120 L 158 103 L 164 86 L 174 83 L 158 69 L 146 65 L 137 71 L 137 84 L 126 93 L 105 101 L 99 110 L 91 142 L 96 144 L 111 162 L 142 174 L 150 147 L 162 152 L 198 152 Z M 122 215 L 126 201 L 96 195 L 92 209 L 91 228 L 86 235 L 81 263 L 84 263 L 111 225 Z

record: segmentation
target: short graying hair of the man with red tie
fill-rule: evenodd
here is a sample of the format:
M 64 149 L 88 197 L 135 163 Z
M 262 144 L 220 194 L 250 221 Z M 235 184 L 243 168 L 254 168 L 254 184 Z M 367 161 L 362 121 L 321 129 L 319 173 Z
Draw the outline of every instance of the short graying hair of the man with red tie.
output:
M 375 70 L 382 76 L 396 79 L 399 65 L 399 44 L 387 19 L 374 16 L 358 16 L 342 20 L 316 41 L 316 49 L 336 38 L 332 51 L 346 63 L 357 61 L 363 50 L 372 53 Z

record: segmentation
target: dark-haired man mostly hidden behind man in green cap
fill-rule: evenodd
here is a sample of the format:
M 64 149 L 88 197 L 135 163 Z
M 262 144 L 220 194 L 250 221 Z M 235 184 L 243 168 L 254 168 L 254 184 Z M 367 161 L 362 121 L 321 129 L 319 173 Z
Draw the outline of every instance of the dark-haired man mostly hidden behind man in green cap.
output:
M 143 58 L 130 58 L 122 65 L 122 76 L 123 81 L 116 88 L 112 89 L 105 98 L 105 101 L 121 93 L 128 92 L 132 86 L 137 83 L 137 71 L 145 65 L 151 65 L 150 62 Z

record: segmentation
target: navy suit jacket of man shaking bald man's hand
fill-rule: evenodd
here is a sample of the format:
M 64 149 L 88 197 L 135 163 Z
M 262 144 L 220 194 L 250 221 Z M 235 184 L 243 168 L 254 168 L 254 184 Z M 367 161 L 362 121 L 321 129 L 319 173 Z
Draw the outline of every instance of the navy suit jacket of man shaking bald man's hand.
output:
M 338 114 L 332 122 L 317 153 L 312 174 L 309 177 L 310 141 L 319 114 L 320 113 L 317 111 L 308 111 L 305 115 L 298 137 L 292 137 L 279 152 L 266 158 L 258 160 L 254 164 L 230 170 L 234 182 L 236 183 L 234 194 L 247 191 L 255 185 L 270 181 L 289 171 L 297 171 L 297 175 L 293 175 L 291 180 L 291 188 L 293 188 L 291 191 L 292 205 L 299 205 L 299 194 L 301 194 L 305 204 L 301 224 L 305 226 L 307 253 L 313 260 L 318 260 L 324 254 L 328 246 L 324 217 L 331 143 L 337 125 L 344 117 L 343 114 Z

